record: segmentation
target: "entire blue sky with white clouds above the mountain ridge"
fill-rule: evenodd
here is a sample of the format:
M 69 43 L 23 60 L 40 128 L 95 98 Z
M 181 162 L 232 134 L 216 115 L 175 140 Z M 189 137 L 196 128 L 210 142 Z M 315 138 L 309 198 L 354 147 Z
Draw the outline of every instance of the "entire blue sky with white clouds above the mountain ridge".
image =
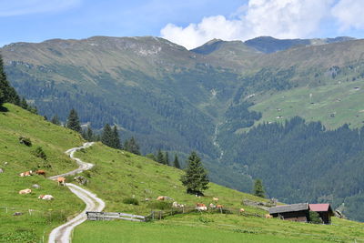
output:
M 187 49 L 218 38 L 364 38 L 364 0 L 0 0 L 0 46 L 95 35 L 164 37 Z

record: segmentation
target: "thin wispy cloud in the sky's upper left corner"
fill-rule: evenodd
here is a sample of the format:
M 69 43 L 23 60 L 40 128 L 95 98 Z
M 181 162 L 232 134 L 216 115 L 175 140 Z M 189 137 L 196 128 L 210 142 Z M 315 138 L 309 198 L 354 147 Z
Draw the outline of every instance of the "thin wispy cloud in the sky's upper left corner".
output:
M 57 12 L 75 7 L 81 2 L 82 0 L 2 0 L 0 17 Z

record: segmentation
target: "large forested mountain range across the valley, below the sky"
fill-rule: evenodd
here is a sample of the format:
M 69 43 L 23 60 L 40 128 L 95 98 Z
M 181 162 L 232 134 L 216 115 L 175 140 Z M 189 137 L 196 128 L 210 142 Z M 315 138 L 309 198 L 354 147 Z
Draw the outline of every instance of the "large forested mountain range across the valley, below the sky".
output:
M 352 209 L 360 204 L 360 190 L 342 190 L 339 197 L 332 192 L 340 185 L 363 186 L 355 177 L 340 175 L 363 172 L 358 166 L 363 163 L 358 154 L 361 144 L 349 138 L 359 137 L 356 129 L 364 121 L 364 40 L 339 37 L 310 40 L 311 45 L 304 46 L 293 45 L 296 40 L 258 40 L 273 43 L 269 45 L 274 48 L 258 51 L 258 44 L 212 40 L 188 51 L 152 36 L 95 36 L 18 43 L 5 46 L 1 53 L 12 85 L 42 115 L 57 114 L 66 121 L 75 107 L 81 121 L 93 128 L 115 124 L 123 139 L 135 136 L 143 153 L 161 148 L 186 157 L 196 149 L 211 179 L 221 185 L 250 191 L 252 178 L 261 177 L 270 197 L 287 203 L 331 198 L 334 207 L 350 203 L 349 217 L 362 220 Z M 280 51 L 266 53 L 273 49 Z M 288 126 L 296 116 L 304 119 L 303 124 L 279 127 Z M 304 126 L 311 122 L 312 127 Z M 349 126 L 342 128 L 345 124 Z M 347 132 L 330 133 L 339 129 Z M 285 140 L 268 143 L 264 134 Z M 304 167 L 308 159 L 310 167 L 339 167 L 333 157 L 342 147 L 332 145 L 329 137 L 348 141 L 341 160 L 344 171 L 338 175 L 330 170 L 330 177 L 308 173 Z M 315 154 L 305 139 L 320 145 L 322 154 Z M 244 145 L 252 147 L 247 151 Z M 262 151 L 265 146 L 268 154 Z M 297 176 L 295 167 L 289 167 L 286 177 L 270 173 L 271 169 L 282 173 L 278 167 L 288 168 L 293 154 L 305 158 L 296 167 L 305 173 Z M 332 183 L 334 177 L 338 184 Z M 305 186 L 299 197 L 290 197 L 308 180 L 316 183 Z M 276 183 L 291 186 L 277 189 Z M 315 193 L 306 194 L 310 191 Z

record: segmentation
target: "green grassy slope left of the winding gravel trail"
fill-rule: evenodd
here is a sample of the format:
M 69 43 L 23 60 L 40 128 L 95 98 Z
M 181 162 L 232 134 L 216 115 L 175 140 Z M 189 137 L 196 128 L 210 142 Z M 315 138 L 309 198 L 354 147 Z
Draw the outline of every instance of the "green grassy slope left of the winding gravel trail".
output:
M 44 169 L 47 176 L 57 175 L 76 168 L 75 161 L 65 155 L 66 149 L 80 146 L 83 140 L 75 132 L 46 122 L 24 109 L 5 104 L 7 112 L 0 112 L 0 242 L 39 241 L 47 238 L 51 228 L 65 222 L 84 208 L 83 202 L 66 187 L 41 176 L 19 177 L 30 169 Z M 18 137 L 29 137 L 32 147 L 26 147 Z M 42 147 L 47 159 L 35 157 L 36 147 Z M 5 162 L 8 164 L 5 165 Z M 39 189 L 31 187 L 34 184 Z M 33 190 L 30 195 L 19 195 L 25 188 Z M 40 200 L 42 194 L 51 194 L 54 201 Z M 6 212 L 7 208 L 7 212 Z M 29 209 L 31 215 L 29 215 Z M 22 212 L 22 216 L 13 216 Z

